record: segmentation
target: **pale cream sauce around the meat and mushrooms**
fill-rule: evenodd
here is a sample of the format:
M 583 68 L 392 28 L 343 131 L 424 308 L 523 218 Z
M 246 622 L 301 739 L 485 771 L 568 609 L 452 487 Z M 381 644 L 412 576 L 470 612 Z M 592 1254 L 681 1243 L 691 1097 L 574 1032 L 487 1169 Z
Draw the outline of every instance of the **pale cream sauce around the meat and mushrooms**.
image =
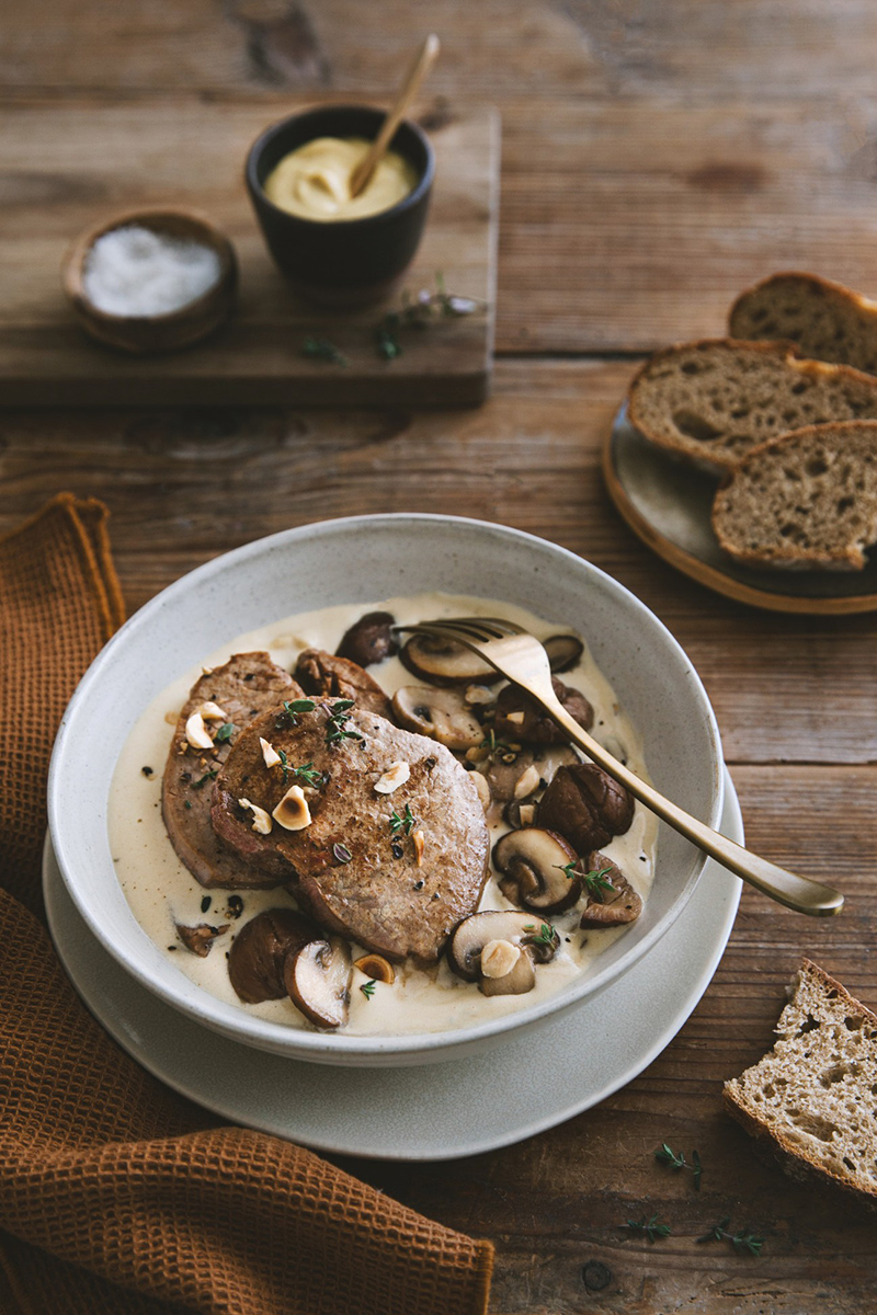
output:
M 419 621 L 427 617 L 501 615 L 517 621 L 525 629 L 546 639 L 563 626 L 548 625 L 521 608 L 484 598 L 427 593 L 415 597 L 387 598 L 379 602 L 352 604 L 301 613 L 283 621 L 251 630 L 229 640 L 204 659 L 205 667 L 218 667 L 234 652 L 267 650 L 281 667 L 292 669 L 304 648 L 323 648 L 334 652 L 343 633 L 366 611 L 392 611 L 398 622 Z M 369 672 L 379 684 L 393 693 L 400 685 L 417 681 L 397 658 L 391 658 Z M 291 1027 L 309 1027 L 292 1001 L 267 1001 L 262 1005 L 243 1005 L 229 982 L 226 953 L 238 926 L 263 909 L 281 905 L 295 907 L 295 901 L 283 889 L 243 890 L 243 915 L 238 923 L 234 907 L 229 905 L 233 892 L 205 890 L 178 859 L 162 821 L 162 773 L 167 759 L 172 727 L 180 707 L 201 668 L 184 672 L 167 686 L 139 717 L 116 764 L 110 789 L 109 838 L 113 863 L 128 902 L 143 930 L 159 947 L 167 947 L 168 960 L 193 982 L 212 995 L 235 1005 L 259 1018 Z M 632 771 L 646 777 L 646 765 L 639 738 L 619 710 L 611 688 L 598 671 L 588 648 L 579 665 L 563 675 L 586 696 L 594 707 L 594 736 L 611 752 L 622 753 Z M 151 768 L 145 775 L 143 768 Z M 493 844 L 505 825 L 492 828 Z M 634 822 L 626 835 L 615 836 L 604 851 L 622 869 L 643 898 L 652 882 L 657 823 L 651 813 L 636 805 Z M 210 907 L 201 910 L 205 897 Z M 234 905 L 235 901 L 233 901 Z M 481 909 L 513 909 L 498 889 L 496 880 L 488 880 Z M 346 1032 L 359 1035 L 410 1032 L 438 1032 L 489 1022 L 518 1009 L 536 1003 L 554 994 L 564 984 L 577 977 L 623 928 L 582 932 L 579 927 L 581 905 L 567 913 L 552 914 L 550 922 L 560 935 L 560 949 L 548 964 L 536 965 L 536 985 L 526 995 L 496 995 L 488 998 L 476 984 L 456 977 L 444 960 L 438 968 L 421 970 L 410 964 L 397 965 L 393 985 L 377 982 L 371 998 L 359 990 L 368 980 L 354 969 L 351 984 L 350 1022 Z M 539 915 L 534 914 L 534 919 Z M 176 924 L 195 926 L 230 923 L 230 930 L 218 938 L 206 959 L 199 959 L 179 942 Z M 174 947 L 174 948 L 171 948 Z M 354 947 L 354 957 L 359 957 Z

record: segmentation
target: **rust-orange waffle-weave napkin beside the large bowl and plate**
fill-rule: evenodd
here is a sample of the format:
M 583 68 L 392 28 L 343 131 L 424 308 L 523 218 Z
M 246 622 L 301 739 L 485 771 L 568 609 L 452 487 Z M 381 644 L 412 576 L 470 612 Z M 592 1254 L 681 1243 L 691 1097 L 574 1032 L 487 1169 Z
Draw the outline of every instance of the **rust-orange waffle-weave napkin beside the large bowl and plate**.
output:
M 0 1310 L 477 1315 L 493 1247 L 309 1151 L 218 1127 L 122 1053 L 39 922 L 49 755 L 124 619 L 107 510 L 0 540 Z

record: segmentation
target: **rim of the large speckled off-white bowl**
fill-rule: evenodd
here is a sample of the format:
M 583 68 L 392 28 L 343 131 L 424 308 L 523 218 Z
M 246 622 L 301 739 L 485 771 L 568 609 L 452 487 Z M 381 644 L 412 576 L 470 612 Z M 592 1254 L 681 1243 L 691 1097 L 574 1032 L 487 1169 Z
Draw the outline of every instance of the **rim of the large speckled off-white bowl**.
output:
M 634 953 L 619 956 L 619 960 L 615 964 L 607 965 L 602 973 L 597 973 L 593 977 L 582 974 L 581 978 L 572 980 L 565 986 L 551 993 L 535 1005 L 530 1005 L 529 1007 L 504 1014 L 500 1018 L 471 1024 L 468 1027 L 438 1032 L 409 1032 L 393 1036 L 385 1034 L 344 1035 L 343 1032 L 326 1034 L 320 1031 L 306 1031 L 297 1027 L 288 1027 L 283 1023 L 271 1023 L 264 1019 L 255 1018 L 239 1006 L 220 1001 L 202 988 L 196 988 L 189 978 L 184 978 L 184 981 L 193 988 L 193 994 L 196 997 L 192 1002 L 189 1002 L 181 998 L 180 993 L 172 989 L 172 986 L 162 976 L 149 970 L 145 964 L 138 964 L 125 957 L 112 938 L 105 935 L 100 918 L 91 907 L 88 899 L 83 896 L 83 892 L 79 889 L 75 872 L 70 871 L 71 864 L 66 852 L 64 822 L 63 815 L 60 814 L 59 794 L 60 782 L 71 773 L 71 768 L 67 765 L 67 759 L 74 753 L 72 746 L 78 742 L 76 721 L 80 715 L 80 707 L 85 705 L 93 686 L 99 685 L 103 680 L 107 667 L 116 660 L 116 652 L 120 648 L 124 650 L 125 644 L 131 640 L 131 636 L 137 636 L 143 629 L 149 629 L 153 615 L 163 609 L 168 602 L 175 601 L 180 594 L 185 596 L 191 589 L 197 589 L 212 577 L 220 576 L 229 567 L 246 564 L 250 558 L 258 559 L 262 554 L 271 554 L 284 548 L 287 544 L 295 544 L 297 540 L 313 540 L 314 538 L 354 533 L 358 529 L 393 526 L 398 527 L 402 533 L 406 531 L 410 534 L 418 526 L 425 523 L 440 525 L 450 529 L 454 529 L 455 526 L 465 526 L 471 531 L 485 534 L 506 543 L 513 540 L 523 543 L 525 546 L 534 546 L 542 552 L 547 550 L 552 555 L 556 554 L 561 562 L 571 564 L 575 569 L 581 571 L 584 568 L 585 572 L 593 572 L 593 576 L 604 588 L 609 588 L 610 592 L 621 593 L 627 608 L 631 608 L 634 613 L 648 626 L 656 627 L 657 634 L 661 635 L 664 643 L 667 643 L 671 650 L 676 651 L 680 661 L 685 665 L 690 689 L 696 696 L 696 702 L 705 714 L 713 750 L 713 781 L 710 789 L 711 810 L 710 815 L 705 821 L 711 827 L 717 827 L 719 825 L 724 797 L 722 743 L 715 721 L 715 713 L 693 663 L 667 626 L 664 626 L 659 617 L 656 617 L 644 602 L 642 602 L 625 585 L 614 580 L 600 567 L 593 565 L 593 563 L 588 562 L 585 558 L 571 552 L 568 548 L 564 548 L 550 539 L 543 539 L 539 535 L 529 534 L 527 531 L 517 530 L 510 526 L 497 525 L 490 521 L 444 515 L 440 513 L 408 512 L 373 513 L 308 522 L 293 529 L 280 530 L 276 534 L 271 534 L 260 539 L 254 539 L 250 543 L 245 543 L 230 550 L 229 552 L 221 554 L 220 556 L 202 563 L 200 567 L 196 567 L 193 571 L 180 576 L 172 584 L 167 585 L 163 590 L 150 598 L 120 627 L 120 630 L 116 631 L 113 638 L 104 646 L 104 648 L 101 648 L 95 660 L 91 663 L 76 686 L 60 721 L 49 767 L 47 801 L 49 827 L 64 885 L 67 886 L 67 890 L 70 892 L 74 903 L 84 918 L 87 926 L 99 939 L 101 945 L 109 951 L 109 953 L 126 969 L 126 972 L 129 972 L 137 981 L 156 994 L 160 999 L 164 999 L 187 1016 L 200 1022 L 202 1026 L 210 1027 L 225 1035 L 231 1035 L 245 1044 L 271 1049 L 275 1053 L 285 1052 L 295 1055 L 298 1059 L 309 1059 L 316 1063 L 368 1064 L 371 1061 L 381 1064 L 387 1063 L 384 1059 L 387 1056 L 429 1056 L 430 1052 L 438 1057 L 443 1057 L 440 1052 L 447 1052 L 450 1056 L 455 1049 L 473 1048 L 481 1041 L 501 1039 L 505 1032 L 511 1031 L 513 1028 L 536 1024 L 547 1015 L 559 1016 L 567 1009 L 572 1009 L 579 1005 L 582 999 L 598 994 L 605 986 L 607 986 L 623 972 L 627 972 L 634 963 L 642 959 L 643 955 L 651 949 L 651 947 L 676 922 L 688 905 L 688 901 L 690 899 L 694 886 L 697 885 L 707 861 L 707 856 L 702 851 L 699 853 L 694 851 L 693 868 L 686 885 L 663 918 L 642 938 L 642 940 L 635 943 L 632 947 L 635 951 Z M 84 729 L 87 732 L 87 722 L 84 723 Z M 130 909 L 129 913 L 134 926 L 151 945 L 151 939 L 139 926 Z

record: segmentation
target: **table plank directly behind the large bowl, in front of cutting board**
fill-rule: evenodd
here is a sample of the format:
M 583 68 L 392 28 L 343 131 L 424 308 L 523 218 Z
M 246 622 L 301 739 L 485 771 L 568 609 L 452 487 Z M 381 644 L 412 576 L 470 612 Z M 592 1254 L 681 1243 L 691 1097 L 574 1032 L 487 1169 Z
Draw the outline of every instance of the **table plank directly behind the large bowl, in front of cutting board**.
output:
M 730 761 L 877 759 L 873 619 L 759 613 L 655 559 L 622 525 L 598 447 L 632 366 L 501 363 L 480 412 L 229 410 L 0 422 L 0 529 L 58 488 L 103 497 L 129 608 L 229 547 L 368 512 L 514 525 L 631 588 L 692 655 Z

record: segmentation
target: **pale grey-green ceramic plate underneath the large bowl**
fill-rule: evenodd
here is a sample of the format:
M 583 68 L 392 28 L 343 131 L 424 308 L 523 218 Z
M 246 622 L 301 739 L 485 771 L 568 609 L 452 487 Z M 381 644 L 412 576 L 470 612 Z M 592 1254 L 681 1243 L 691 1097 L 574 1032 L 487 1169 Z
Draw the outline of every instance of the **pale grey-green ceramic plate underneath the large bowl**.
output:
M 726 778 L 721 830 L 743 842 Z M 95 939 L 70 898 L 49 838 L 49 926 L 76 990 L 143 1068 L 199 1105 L 318 1151 L 451 1160 L 510 1145 L 590 1109 L 635 1078 L 706 990 L 731 935 L 740 881 L 709 861 L 671 930 L 598 997 L 494 1049 L 423 1068 L 329 1068 L 220 1036 L 164 1005 Z M 539 1069 L 539 1098 L 522 1073 Z

